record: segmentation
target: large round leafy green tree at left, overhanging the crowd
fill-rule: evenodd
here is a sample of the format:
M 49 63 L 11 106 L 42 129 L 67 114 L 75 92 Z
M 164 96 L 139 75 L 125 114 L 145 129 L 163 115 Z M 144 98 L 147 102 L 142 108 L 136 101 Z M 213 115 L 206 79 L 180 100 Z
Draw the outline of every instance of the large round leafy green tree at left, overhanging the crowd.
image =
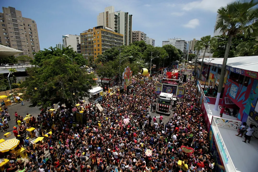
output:
M 28 77 L 21 83 L 30 107 L 47 109 L 54 103 L 71 108 L 79 99 L 89 95 L 95 85 L 93 74 L 88 74 L 70 59 L 53 56 L 43 61 L 40 68 L 27 69 Z

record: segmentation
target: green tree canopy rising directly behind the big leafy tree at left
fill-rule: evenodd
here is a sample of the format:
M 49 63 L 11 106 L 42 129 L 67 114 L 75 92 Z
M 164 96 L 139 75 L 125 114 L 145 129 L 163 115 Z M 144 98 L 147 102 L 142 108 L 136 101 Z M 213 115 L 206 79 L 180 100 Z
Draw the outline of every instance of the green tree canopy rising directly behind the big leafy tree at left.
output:
M 65 57 L 69 60 L 69 58 L 63 54 L 67 55 L 69 58 L 72 58 L 73 62 L 80 67 L 88 65 L 88 61 L 82 56 L 82 54 L 77 53 L 73 48 L 70 48 L 70 46 L 63 48 L 62 50 L 56 47 L 50 47 L 49 49 L 44 49 L 44 51 L 39 51 L 35 54 L 32 64 L 42 66 L 45 60 L 53 57 Z

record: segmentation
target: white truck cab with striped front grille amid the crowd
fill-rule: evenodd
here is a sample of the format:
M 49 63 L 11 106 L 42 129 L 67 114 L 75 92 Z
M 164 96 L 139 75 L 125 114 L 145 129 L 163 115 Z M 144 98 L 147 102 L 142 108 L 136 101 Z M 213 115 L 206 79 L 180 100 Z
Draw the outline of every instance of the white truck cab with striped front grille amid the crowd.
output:
M 173 94 L 160 93 L 158 98 L 157 112 L 170 114 L 172 110 L 172 104 L 173 104 Z

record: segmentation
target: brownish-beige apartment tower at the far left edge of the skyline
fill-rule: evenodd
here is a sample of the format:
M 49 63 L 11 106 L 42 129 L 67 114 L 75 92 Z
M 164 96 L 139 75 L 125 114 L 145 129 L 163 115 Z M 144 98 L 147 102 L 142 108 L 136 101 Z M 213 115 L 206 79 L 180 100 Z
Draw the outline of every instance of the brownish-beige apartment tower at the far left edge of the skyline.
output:
M 35 20 L 22 17 L 21 11 L 13 7 L 3 7 L 0 13 L 0 43 L 23 51 L 15 56 L 29 56 L 40 50 L 38 30 Z

